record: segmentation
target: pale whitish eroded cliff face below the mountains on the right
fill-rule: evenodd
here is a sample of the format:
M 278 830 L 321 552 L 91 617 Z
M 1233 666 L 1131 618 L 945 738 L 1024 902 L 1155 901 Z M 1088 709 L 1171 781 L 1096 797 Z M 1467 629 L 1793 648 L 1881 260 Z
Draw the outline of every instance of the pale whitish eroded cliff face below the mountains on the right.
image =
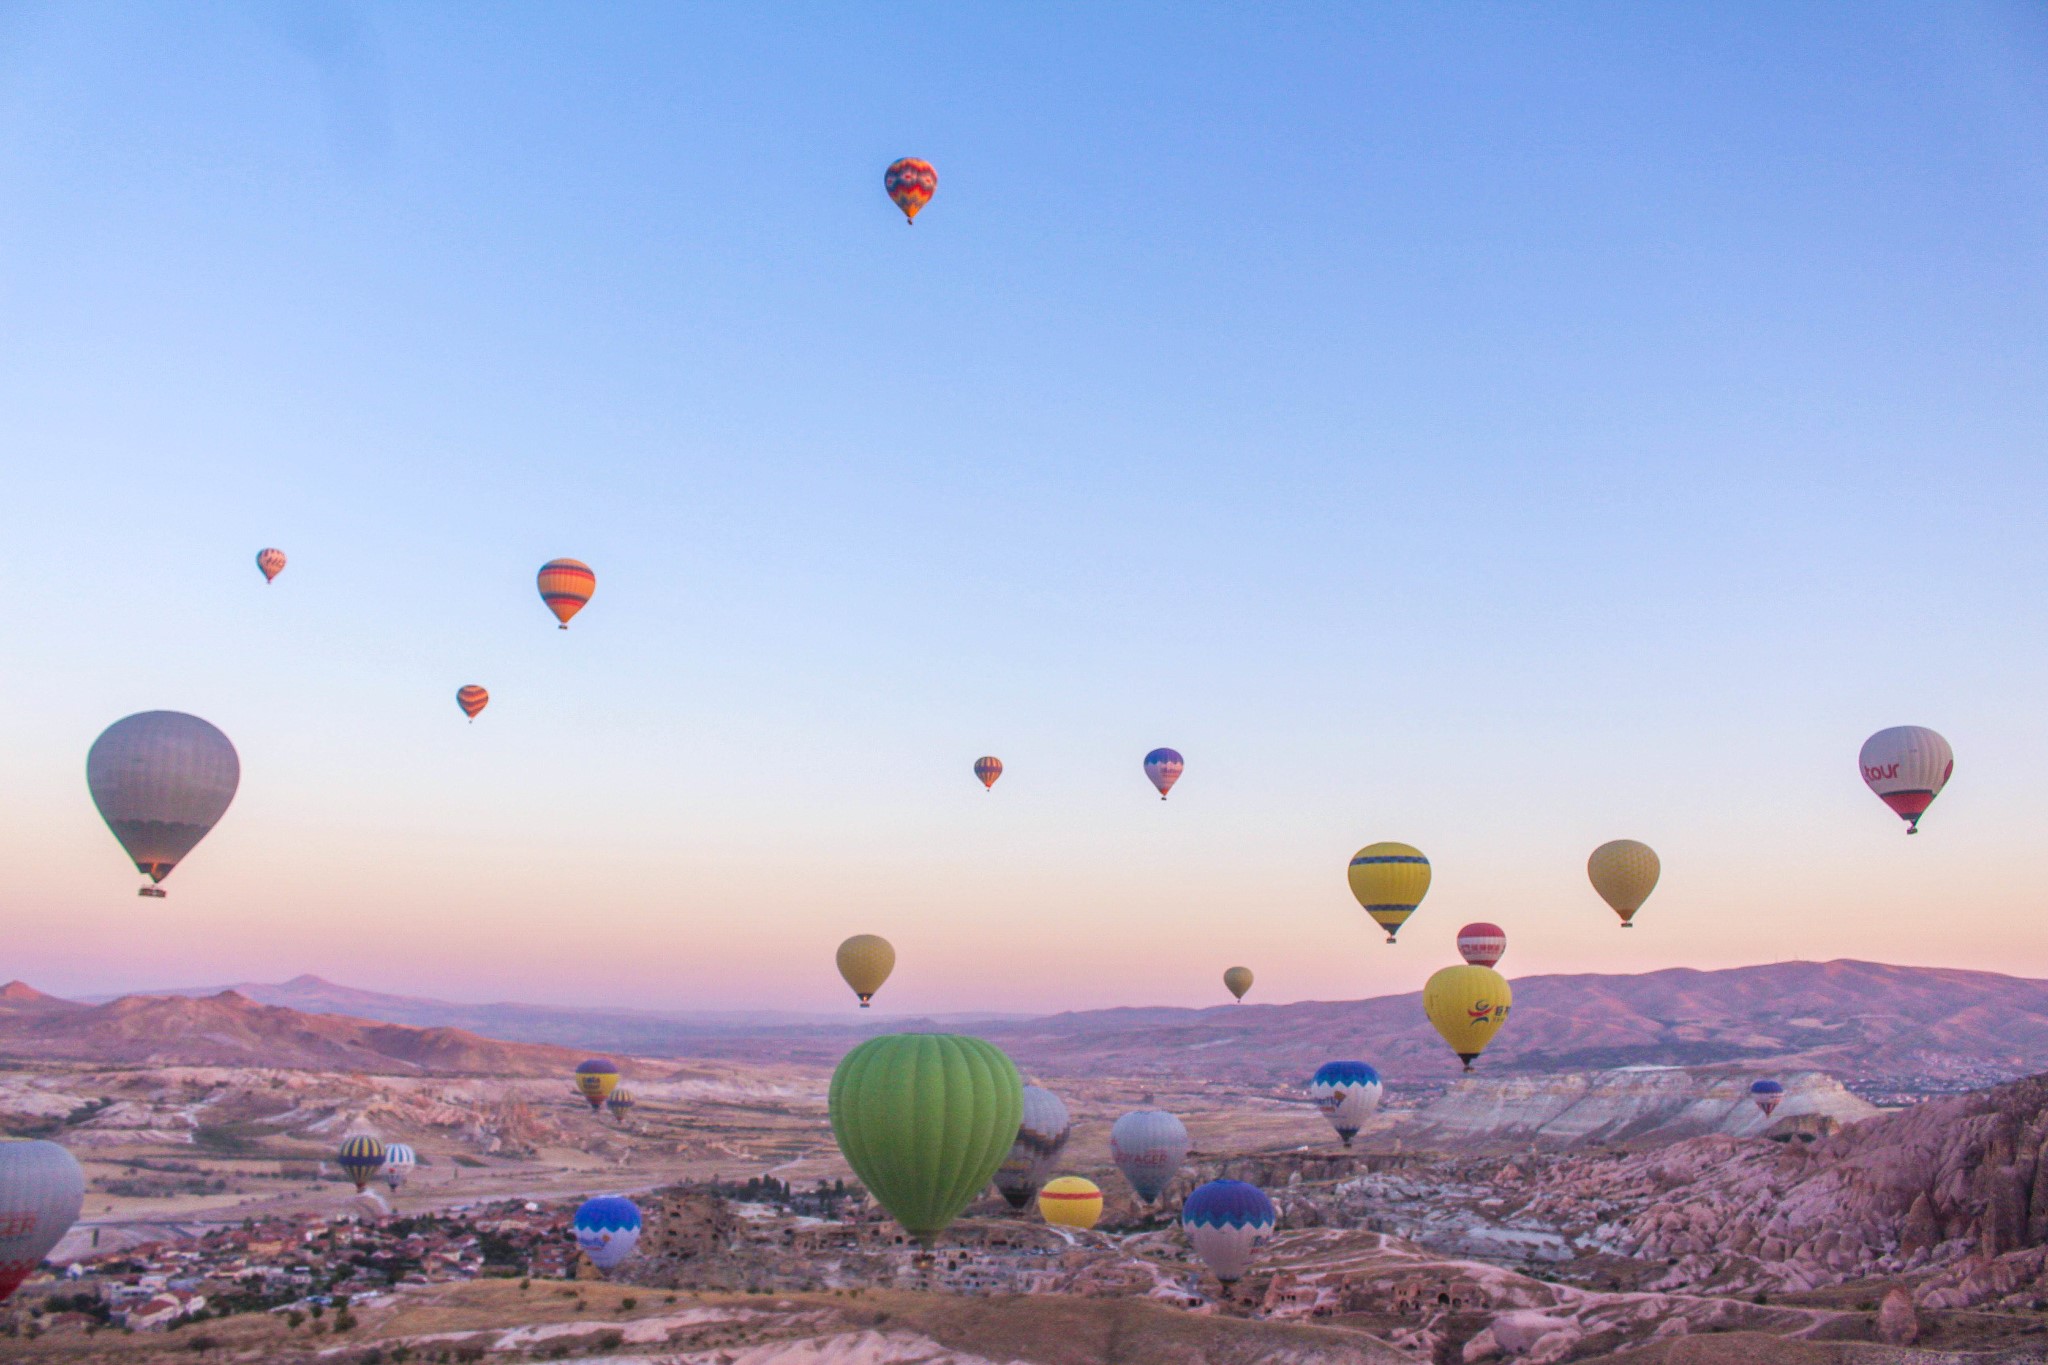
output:
M 1423 1142 L 1589 1146 L 1739 1138 L 1800 1128 L 1794 1119 L 1860 1124 L 1878 1109 L 1815 1070 L 1772 1072 L 1786 1095 L 1772 1117 L 1749 1099 L 1753 1070 L 1626 1066 L 1556 1076 L 1464 1076 L 1399 1132 Z

